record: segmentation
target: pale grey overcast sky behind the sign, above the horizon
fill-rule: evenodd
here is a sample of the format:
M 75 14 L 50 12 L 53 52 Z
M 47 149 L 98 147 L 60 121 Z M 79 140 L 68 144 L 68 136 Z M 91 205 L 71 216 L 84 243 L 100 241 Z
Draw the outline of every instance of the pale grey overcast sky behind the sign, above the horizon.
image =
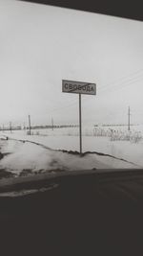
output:
M 0 1 L 0 125 L 78 124 L 78 95 L 62 80 L 95 82 L 84 124 L 143 124 L 143 22 Z

